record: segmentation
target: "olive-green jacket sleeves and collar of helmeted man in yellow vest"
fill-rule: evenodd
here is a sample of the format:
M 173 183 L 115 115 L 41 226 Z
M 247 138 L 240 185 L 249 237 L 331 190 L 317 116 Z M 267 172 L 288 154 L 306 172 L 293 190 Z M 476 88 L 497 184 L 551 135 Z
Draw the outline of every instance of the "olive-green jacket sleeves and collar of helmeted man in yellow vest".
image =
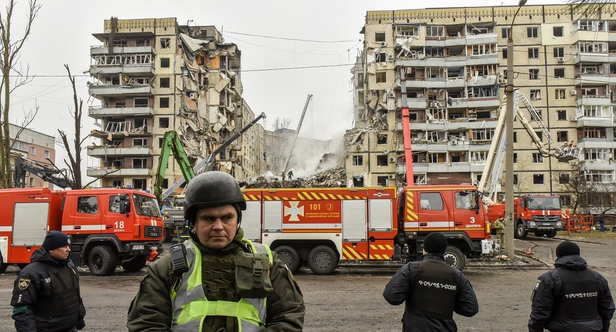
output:
M 241 241 L 244 231 L 239 229 L 234 241 Z M 192 237 L 196 249 L 199 249 L 203 257 L 211 254 L 223 256 L 235 254 L 241 250 L 238 245 L 231 243 L 229 246 L 213 253 L 213 249 L 206 248 L 198 242 L 197 237 Z M 278 259 L 278 255 L 272 251 L 274 265 L 270 269 L 270 280 L 274 291 L 267 296 L 267 317 L 265 318 L 265 330 L 269 332 L 293 332 L 302 331 L 304 325 L 304 298 L 299 286 L 293 279 L 293 275 L 286 265 Z M 141 280 L 137 296 L 132 300 L 128 309 L 129 331 L 140 332 L 168 332 L 171 330 L 171 288 L 176 280 L 169 273 L 171 257 L 165 255 L 148 265 L 147 274 Z

